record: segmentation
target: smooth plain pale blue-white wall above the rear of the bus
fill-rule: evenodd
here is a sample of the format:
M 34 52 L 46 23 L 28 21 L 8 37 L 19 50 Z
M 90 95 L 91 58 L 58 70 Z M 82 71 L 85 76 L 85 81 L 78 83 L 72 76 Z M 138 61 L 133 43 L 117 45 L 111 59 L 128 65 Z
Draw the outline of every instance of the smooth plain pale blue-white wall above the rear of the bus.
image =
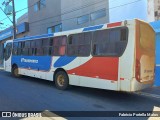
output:
M 147 0 L 110 0 L 110 22 L 134 18 L 147 21 L 147 5 Z

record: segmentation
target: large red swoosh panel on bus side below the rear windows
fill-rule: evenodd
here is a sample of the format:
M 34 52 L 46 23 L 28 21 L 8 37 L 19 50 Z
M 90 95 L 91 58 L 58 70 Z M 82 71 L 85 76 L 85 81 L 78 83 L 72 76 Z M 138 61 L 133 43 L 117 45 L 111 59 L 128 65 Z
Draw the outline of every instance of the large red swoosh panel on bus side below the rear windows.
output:
M 83 65 L 68 70 L 68 74 L 73 74 L 84 77 L 118 80 L 118 61 L 119 58 L 93 57 Z

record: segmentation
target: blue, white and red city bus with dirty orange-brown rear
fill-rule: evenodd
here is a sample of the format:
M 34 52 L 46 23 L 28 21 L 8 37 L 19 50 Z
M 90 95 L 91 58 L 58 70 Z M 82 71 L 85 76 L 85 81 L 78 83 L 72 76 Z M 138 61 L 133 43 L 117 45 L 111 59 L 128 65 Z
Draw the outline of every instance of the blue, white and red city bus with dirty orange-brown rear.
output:
M 18 38 L 6 43 L 5 70 L 69 85 L 134 92 L 154 83 L 155 32 L 141 20 Z

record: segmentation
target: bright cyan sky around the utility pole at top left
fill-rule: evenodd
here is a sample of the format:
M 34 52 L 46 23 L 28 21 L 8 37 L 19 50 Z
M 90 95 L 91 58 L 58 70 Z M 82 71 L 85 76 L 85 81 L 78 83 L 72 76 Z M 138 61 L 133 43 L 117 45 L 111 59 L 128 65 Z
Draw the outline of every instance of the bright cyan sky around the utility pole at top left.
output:
M 0 0 L 0 7 L 2 9 L 4 9 L 4 6 L 2 6 L 3 1 L 5 1 L 5 0 Z M 14 0 L 14 1 L 15 1 L 15 11 L 19 11 L 19 10 L 21 10 L 23 8 L 27 8 L 28 7 L 27 0 Z M 19 18 L 20 16 L 22 16 L 27 11 L 28 10 L 25 9 L 25 10 L 23 10 L 21 12 L 18 12 L 16 14 L 16 19 Z M 0 25 L 0 31 L 5 29 L 5 28 L 8 28 L 8 27 L 12 26 L 12 23 L 9 21 L 9 19 L 7 18 L 7 19 L 3 20 L 4 18 L 6 18 L 6 15 L 0 10 L 0 22 L 3 23 L 3 25 Z M 12 16 L 10 18 L 12 20 Z M 3 21 L 1 21 L 1 20 L 3 20 Z

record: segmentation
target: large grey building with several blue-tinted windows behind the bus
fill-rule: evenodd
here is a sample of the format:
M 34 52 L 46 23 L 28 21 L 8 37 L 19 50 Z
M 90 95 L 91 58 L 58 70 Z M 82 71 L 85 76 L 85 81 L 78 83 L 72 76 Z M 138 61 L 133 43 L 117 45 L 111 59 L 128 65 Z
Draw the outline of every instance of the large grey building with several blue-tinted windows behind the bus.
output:
M 28 6 L 29 35 L 109 22 L 108 0 L 28 0 Z

